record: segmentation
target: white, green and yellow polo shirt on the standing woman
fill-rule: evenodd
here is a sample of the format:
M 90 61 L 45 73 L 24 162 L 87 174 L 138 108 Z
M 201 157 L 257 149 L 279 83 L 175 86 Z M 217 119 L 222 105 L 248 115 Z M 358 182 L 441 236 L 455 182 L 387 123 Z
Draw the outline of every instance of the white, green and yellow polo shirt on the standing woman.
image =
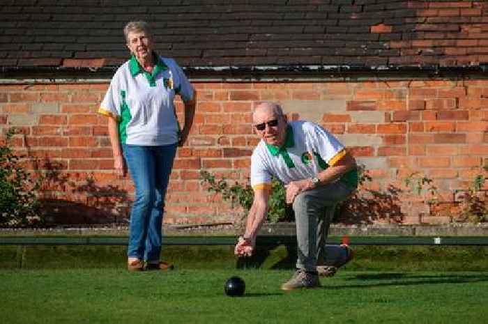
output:
M 121 65 L 100 105 L 100 114 L 119 121 L 121 144 L 160 146 L 178 141 L 174 96 L 190 101 L 193 88 L 173 59 L 156 55 L 155 59 L 152 73 L 134 56 Z

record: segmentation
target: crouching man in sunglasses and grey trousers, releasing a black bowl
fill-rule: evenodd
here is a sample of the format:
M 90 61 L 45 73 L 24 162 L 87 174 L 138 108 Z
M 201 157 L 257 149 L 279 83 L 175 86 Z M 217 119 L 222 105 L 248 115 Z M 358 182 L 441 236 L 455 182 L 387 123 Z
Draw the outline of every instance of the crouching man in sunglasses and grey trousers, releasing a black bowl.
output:
M 333 275 L 352 257 L 349 247 L 326 247 L 335 205 L 356 190 L 356 161 L 332 134 L 307 121 L 287 121 L 280 105 L 263 102 L 252 112 L 261 141 L 251 157 L 254 201 L 235 253 L 250 256 L 268 212 L 272 176 L 284 183 L 296 219 L 296 272 L 282 285 L 289 291 L 317 288 L 321 275 Z M 324 213 L 324 209 L 326 213 Z

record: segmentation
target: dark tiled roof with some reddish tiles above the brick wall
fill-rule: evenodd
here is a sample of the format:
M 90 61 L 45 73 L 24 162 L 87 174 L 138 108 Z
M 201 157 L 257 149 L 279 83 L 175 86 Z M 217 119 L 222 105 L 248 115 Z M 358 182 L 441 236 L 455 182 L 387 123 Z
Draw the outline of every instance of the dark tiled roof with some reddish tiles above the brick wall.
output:
M 487 1 L 10 0 L 0 11 L 1 66 L 119 64 L 134 17 L 151 23 L 160 54 L 188 67 L 457 67 L 488 53 Z

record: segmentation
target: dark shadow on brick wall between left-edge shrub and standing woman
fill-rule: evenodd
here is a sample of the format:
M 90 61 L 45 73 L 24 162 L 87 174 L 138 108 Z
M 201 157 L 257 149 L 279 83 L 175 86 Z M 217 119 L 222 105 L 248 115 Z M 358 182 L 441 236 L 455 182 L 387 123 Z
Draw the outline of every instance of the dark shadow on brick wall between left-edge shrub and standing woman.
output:
M 47 160 L 43 169 L 39 201 L 47 225 L 128 223 L 127 190 L 97 185 L 91 175 L 75 182 L 62 172 L 60 162 Z

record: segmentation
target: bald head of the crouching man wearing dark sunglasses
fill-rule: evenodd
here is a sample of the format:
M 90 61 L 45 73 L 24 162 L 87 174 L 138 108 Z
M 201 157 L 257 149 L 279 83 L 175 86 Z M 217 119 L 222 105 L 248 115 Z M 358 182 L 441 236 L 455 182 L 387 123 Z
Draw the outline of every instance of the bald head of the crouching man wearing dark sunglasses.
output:
M 266 144 L 282 146 L 287 134 L 287 116 L 276 116 L 268 106 L 257 107 L 252 116 L 254 130 Z

